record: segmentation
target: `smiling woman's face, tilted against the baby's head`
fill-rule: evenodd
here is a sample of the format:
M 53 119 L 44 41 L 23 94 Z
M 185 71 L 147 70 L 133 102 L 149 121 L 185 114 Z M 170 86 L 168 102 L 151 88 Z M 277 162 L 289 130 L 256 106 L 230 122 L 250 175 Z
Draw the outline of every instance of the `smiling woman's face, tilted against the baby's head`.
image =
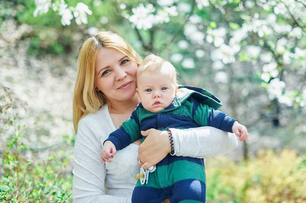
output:
M 101 48 L 95 63 L 95 86 L 112 101 L 126 101 L 136 93 L 137 63 L 114 48 Z

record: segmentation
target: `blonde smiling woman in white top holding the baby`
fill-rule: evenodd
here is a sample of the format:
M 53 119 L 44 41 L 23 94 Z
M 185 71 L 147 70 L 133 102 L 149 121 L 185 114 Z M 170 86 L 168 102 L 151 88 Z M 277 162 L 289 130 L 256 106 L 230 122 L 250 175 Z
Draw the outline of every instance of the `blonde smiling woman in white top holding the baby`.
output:
M 173 150 L 168 132 L 150 129 L 142 132 L 143 143 L 117 152 L 112 163 L 100 161 L 104 140 L 139 103 L 135 75 L 141 62 L 130 44 L 110 32 L 90 36 L 82 46 L 73 96 L 74 202 L 131 202 L 140 164 L 155 165 Z M 170 130 L 176 156 L 216 156 L 238 144 L 233 134 L 211 127 Z

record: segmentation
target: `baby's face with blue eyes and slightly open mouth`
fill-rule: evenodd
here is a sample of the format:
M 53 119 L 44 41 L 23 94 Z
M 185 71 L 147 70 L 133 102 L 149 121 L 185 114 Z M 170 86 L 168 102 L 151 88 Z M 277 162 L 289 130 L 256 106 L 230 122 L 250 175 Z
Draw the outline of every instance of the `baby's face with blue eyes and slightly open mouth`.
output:
M 175 78 L 168 72 L 143 72 L 137 78 L 137 93 L 143 107 L 158 113 L 167 108 L 177 92 Z

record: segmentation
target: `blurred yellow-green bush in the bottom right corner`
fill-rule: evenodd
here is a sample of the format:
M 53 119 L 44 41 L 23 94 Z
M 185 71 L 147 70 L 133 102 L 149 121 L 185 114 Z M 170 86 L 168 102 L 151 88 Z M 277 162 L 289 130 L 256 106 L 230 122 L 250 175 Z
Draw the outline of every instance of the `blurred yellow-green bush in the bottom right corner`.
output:
M 207 164 L 207 202 L 306 202 L 306 156 L 259 151 L 248 162 L 217 157 Z

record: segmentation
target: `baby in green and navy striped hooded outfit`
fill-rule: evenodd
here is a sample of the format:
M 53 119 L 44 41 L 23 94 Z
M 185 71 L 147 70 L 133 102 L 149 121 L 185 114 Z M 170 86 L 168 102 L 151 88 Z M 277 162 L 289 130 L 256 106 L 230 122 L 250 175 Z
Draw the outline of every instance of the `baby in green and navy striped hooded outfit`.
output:
M 101 151 L 104 163 L 110 161 L 117 150 L 141 138 L 140 131 L 150 128 L 167 130 L 212 126 L 234 132 L 240 141 L 248 139 L 243 125 L 217 110 L 222 106 L 218 98 L 200 88 L 179 86 L 175 68 L 161 57 L 154 54 L 145 57 L 136 76 L 136 91 L 141 102 L 130 119 L 104 142 Z M 144 139 L 142 137 L 142 141 Z M 162 202 L 166 197 L 170 202 L 206 202 L 203 159 L 171 154 L 156 165 L 146 185 L 138 180 L 132 202 Z

